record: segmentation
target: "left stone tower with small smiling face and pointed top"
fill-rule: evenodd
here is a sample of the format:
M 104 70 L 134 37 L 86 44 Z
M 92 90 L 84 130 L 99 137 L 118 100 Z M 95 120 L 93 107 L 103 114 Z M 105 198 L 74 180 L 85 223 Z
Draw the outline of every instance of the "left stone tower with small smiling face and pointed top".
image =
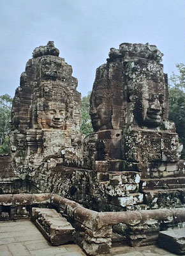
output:
M 54 42 L 34 49 L 20 76 L 11 116 L 13 169 L 22 179 L 34 174 L 45 159 L 50 159 L 52 167 L 81 164 L 81 94 L 77 83 Z

